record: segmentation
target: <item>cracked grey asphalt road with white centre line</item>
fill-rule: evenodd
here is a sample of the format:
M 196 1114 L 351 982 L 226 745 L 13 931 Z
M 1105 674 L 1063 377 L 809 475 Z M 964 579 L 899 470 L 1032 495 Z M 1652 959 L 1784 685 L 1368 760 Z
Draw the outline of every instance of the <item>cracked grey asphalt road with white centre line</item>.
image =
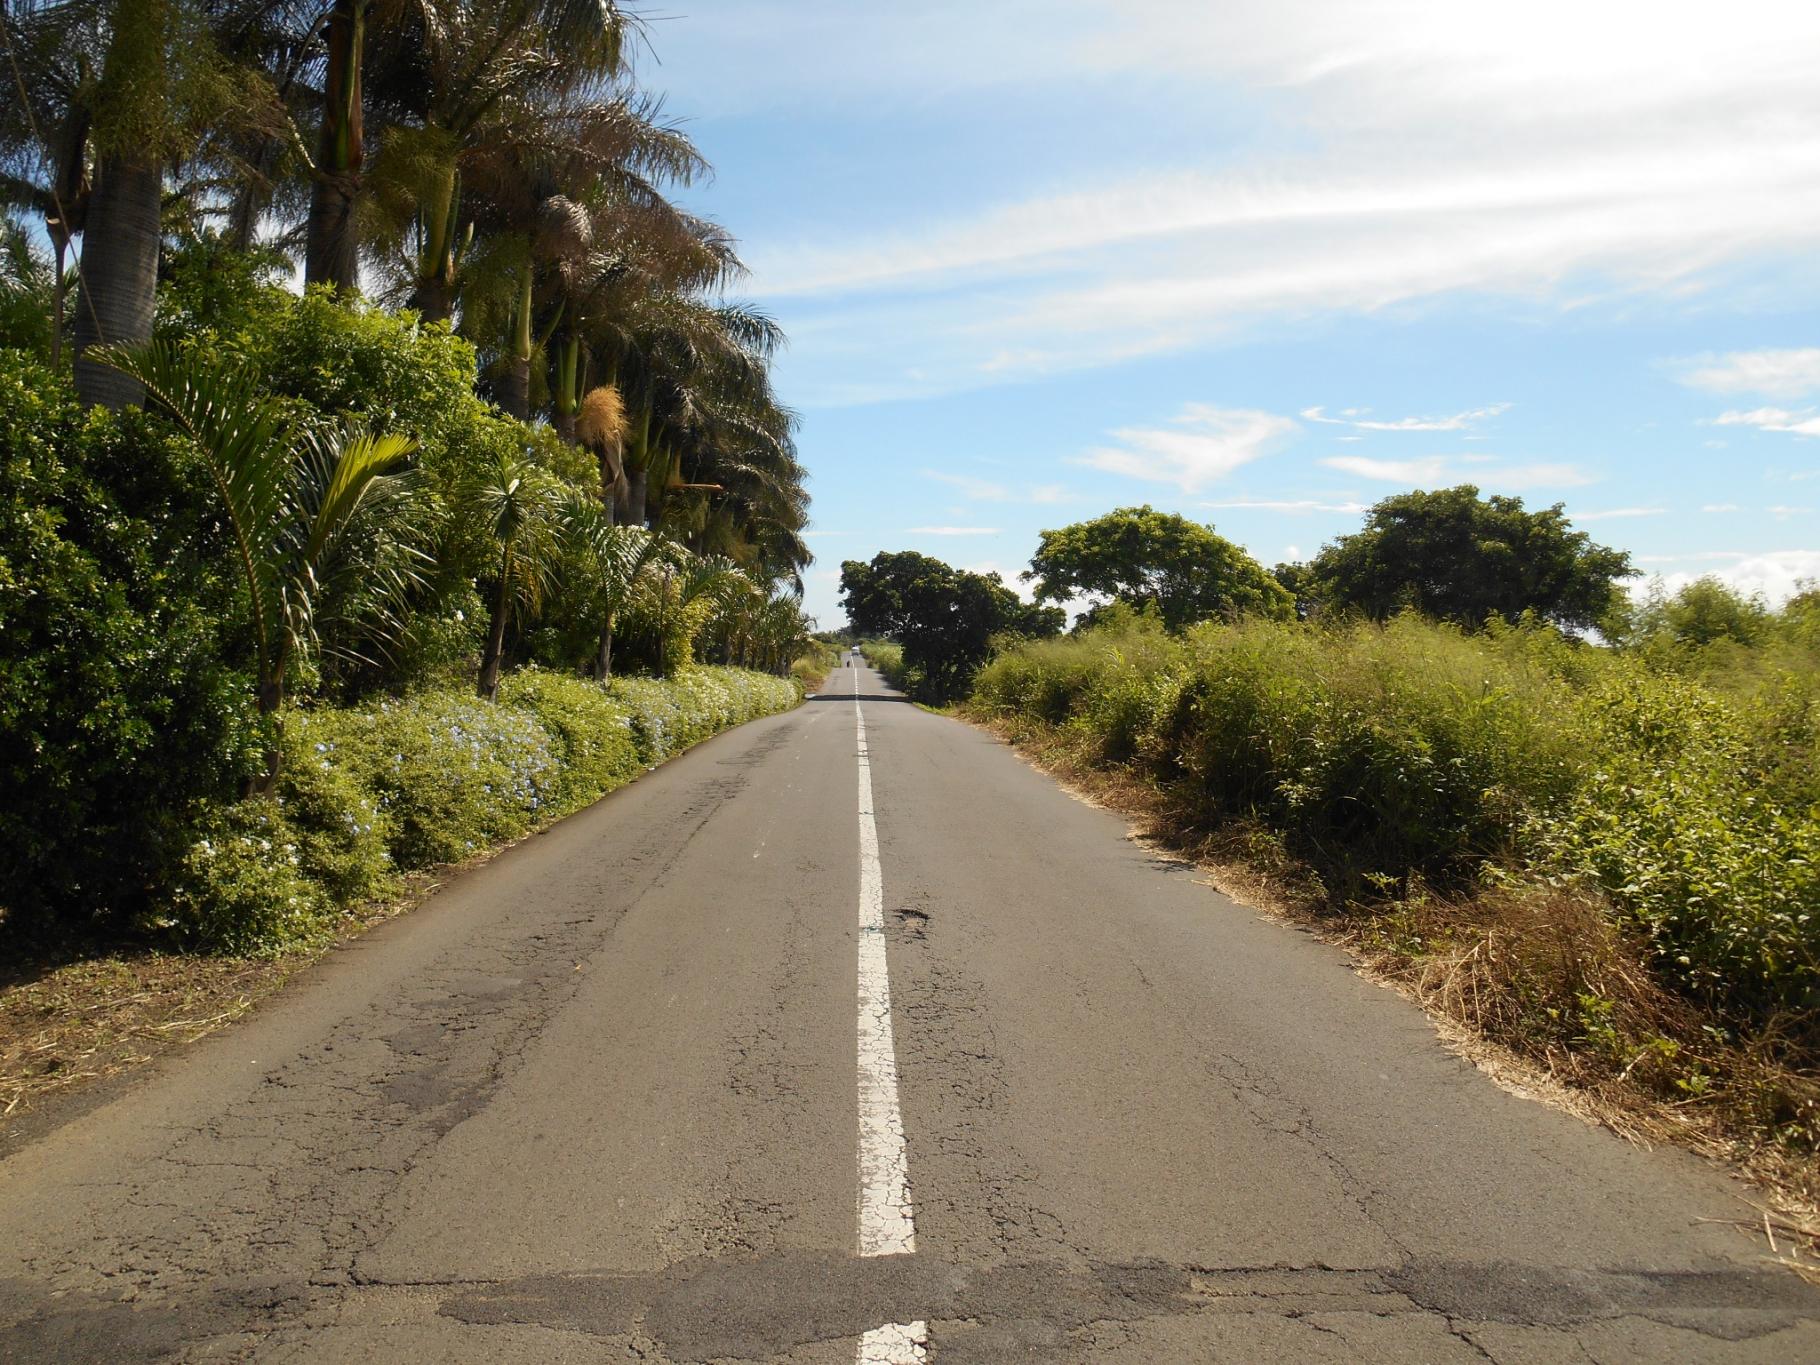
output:
M 1738 1212 L 839 670 L 11 1154 L 0 1360 L 1820 1360 Z

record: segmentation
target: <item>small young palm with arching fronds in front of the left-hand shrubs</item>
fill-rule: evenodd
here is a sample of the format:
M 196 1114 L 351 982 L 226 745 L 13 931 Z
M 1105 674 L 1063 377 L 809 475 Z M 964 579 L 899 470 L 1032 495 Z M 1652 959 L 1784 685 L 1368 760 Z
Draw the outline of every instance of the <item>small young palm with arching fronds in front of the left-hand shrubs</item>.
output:
M 118 369 L 147 406 L 184 431 L 202 455 L 248 595 L 255 703 L 277 728 L 286 679 L 320 641 L 320 608 L 360 582 L 375 633 L 397 628 L 389 606 L 415 582 L 411 557 L 377 557 L 417 484 L 406 460 L 415 440 L 324 422 L 293 422 L 257 380 L 209 368 L 193 351 L 158 342 L 91 355 Z M 269 792 L 278 746 L 249 790 Z

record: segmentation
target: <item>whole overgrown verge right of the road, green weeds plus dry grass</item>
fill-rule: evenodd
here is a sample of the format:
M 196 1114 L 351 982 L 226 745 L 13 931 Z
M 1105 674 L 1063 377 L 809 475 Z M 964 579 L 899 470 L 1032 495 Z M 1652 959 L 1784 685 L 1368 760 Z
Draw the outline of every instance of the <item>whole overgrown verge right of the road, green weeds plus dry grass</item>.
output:
M 1127 617 L 1003 650 L 968 713 L 1582 1112 L 1738 1161 L 1813 1236 L 1804 639 Z

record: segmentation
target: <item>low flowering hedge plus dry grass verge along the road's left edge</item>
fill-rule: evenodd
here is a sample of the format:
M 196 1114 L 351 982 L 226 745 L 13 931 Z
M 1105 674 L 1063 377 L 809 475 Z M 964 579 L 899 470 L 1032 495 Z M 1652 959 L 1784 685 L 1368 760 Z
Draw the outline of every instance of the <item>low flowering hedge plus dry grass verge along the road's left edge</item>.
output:
M 147 937 L 7 965 L 0 1147 L 46 1097 L 220 1028 L 448 872 L 801 697 L 799 681 L 739 668 L 608 688 L 521 670 L 497 704 L 433 690 L 293 712 L 277 790 L 198 826 Z

